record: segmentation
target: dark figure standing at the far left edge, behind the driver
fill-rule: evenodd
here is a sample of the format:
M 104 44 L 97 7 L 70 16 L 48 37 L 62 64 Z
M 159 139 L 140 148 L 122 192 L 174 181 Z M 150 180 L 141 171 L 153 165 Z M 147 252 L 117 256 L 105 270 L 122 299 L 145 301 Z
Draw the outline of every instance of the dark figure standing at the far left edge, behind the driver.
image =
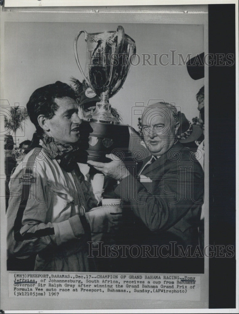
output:
M 5 205 L 6 210 L 8 208 L 8 200 L 9 200 L 9 182 L 11 178 L 11 174 L 13 169 L 16 167 L 16 160 L 13 158 L 13 148 L 14 148 L 14 141 L 12 135 L 5 135 L 4 138 L 4 149 L 5 149 Z

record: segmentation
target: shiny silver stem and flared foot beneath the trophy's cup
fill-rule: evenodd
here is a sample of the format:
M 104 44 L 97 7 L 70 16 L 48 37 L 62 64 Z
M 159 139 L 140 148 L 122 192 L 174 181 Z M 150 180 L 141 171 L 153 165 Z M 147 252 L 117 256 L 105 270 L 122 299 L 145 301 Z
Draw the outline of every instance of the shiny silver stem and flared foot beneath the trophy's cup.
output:
M 100 101 L 96 103 L 95 111 L 89 116 L 89 119 L 97 122 L 120 124 L 119 119 L 111 113 L 111 105 L 109 104 L 109 95 L 107 92 L 100 94 Z

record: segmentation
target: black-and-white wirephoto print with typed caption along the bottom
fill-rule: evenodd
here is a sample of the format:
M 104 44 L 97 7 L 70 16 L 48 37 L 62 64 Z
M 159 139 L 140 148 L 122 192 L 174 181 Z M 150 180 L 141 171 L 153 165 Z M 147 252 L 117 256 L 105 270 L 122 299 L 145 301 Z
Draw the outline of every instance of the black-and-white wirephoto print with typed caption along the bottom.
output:
M 235 53 L 210 52 L 208 6 L 1 8 L 9 309 L 208 309 L 210 259 L 236 245 L 233 208 L 210 238 L 209 69 Z

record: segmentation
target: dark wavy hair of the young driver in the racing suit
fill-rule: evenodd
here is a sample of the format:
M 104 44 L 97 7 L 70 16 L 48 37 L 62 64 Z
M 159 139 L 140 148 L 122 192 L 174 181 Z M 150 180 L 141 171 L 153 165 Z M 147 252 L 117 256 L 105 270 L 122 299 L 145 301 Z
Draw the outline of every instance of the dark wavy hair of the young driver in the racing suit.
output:
M 44 115 L 46 118 L 51 119 L 55 115 L 55 111 L 59 108 L 55 99 L 64 97 L 76 100 L 74 90 L 68 84 L 60 81 L 40 87 L 32 93 L 27 103 L 27 112 L 39 136 L 43 134 L 43 129 L 38 124 L 38 116 Z

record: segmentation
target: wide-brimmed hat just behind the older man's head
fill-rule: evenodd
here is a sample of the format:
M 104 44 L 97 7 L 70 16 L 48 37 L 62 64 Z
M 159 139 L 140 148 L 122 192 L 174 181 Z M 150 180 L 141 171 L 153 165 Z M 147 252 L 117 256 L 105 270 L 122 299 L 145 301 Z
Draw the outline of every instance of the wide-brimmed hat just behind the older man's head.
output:
M 202 128 L 198 124 L 192 124 L 186 118 L 184 113 L 178 111 L 178 128 L 177 138 L 180 143 L 190 143 L 196 141 L 202 135 Z

